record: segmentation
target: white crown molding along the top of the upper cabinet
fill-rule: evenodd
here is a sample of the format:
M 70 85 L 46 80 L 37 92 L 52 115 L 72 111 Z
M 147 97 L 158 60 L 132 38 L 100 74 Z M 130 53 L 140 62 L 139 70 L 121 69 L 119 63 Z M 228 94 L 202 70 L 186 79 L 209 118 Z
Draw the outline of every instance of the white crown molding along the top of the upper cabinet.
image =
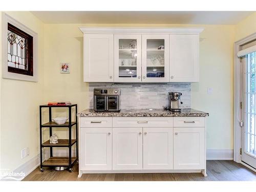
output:
M 117 27 L 79 27 L 83 33 L 109 34 L 199 34 L 204 28 L 117 28 Z

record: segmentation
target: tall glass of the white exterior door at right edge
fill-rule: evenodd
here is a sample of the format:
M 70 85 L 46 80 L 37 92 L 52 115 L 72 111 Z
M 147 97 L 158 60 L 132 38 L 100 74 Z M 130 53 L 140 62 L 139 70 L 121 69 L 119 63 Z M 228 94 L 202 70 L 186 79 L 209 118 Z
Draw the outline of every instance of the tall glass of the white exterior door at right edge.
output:
M 246 90 L 246 113 L 247 113 L 247 126 L 246 126 L 246 152 L 250 155 L 256 156 L 255 152 L 255 121 L 256 121 L 256 113 L 255 113 L 255 54 L 256 52 L 250 53 L 246 55 L 246 65 L 247 65 L 247 90 Z

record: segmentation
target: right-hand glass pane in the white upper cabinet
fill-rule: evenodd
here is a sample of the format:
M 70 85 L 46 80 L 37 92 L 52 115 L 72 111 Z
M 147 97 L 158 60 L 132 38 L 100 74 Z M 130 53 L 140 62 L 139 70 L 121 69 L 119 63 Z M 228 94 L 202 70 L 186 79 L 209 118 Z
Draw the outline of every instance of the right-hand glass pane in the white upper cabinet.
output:
M 164 77 L 164 39 L 146 40 L 146 77 Z

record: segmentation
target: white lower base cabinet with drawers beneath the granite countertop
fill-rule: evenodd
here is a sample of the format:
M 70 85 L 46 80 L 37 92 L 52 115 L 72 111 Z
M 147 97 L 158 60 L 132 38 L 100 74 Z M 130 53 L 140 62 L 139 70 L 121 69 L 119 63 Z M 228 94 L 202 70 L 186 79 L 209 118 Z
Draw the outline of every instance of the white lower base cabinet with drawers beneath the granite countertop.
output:
M 79 176 L 172 170 L 206 175 L 204 117 L 81 117 L 80 124 Z

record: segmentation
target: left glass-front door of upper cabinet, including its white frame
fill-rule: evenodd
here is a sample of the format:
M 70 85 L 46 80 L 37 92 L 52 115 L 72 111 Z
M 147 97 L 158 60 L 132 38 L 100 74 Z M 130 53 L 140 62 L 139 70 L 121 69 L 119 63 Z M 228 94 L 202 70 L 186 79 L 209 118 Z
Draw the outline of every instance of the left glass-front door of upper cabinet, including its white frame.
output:
M 115 34 L 114 81 L 141 81 L 141 35 Z

